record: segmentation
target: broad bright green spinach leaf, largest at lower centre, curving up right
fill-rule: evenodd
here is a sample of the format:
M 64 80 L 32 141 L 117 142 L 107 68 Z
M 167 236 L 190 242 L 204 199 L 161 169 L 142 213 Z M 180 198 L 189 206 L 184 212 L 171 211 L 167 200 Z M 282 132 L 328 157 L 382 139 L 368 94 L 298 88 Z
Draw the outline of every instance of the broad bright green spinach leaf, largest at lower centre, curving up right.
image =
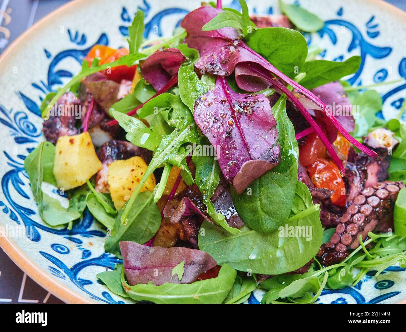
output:
M 266 234 L 247 226 L 243 226 L 239 234 L 229 234 L 205 221 L 199 232 L 199 248 L 219 265 L 227 263 L 240 271 L 261 274 L 294 271 L 309 262 L 320 249 L 323 230 L 319 214 L 320 206 L 311 206 L 287 219 L 279 231 Z M 285 230 L 292 226 L 296 230 L 308 227 L 309 236 L 287 234 L 286 237 Z

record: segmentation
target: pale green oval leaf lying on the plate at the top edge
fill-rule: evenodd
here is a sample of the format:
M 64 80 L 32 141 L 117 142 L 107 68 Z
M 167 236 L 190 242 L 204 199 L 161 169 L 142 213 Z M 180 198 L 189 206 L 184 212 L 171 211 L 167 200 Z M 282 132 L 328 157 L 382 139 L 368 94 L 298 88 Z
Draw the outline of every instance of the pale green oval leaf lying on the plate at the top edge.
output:
M 296 6 L 295 4 L 285 4 L 283 1 L 279 0 L 279 8 L 300 30 L 316 32 L 324 26 L 324 21 L 317 15 L 310 13 L 306 9 Z

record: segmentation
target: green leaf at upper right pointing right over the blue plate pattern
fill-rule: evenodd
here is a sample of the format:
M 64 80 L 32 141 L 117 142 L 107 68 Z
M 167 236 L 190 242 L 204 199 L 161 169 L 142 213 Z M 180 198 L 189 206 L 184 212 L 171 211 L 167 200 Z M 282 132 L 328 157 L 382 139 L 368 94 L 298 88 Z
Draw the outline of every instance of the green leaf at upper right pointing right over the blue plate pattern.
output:
M 306 76 L 300 81 L 300 84 L 309 90 L 314 89 L 356 73 L 360 64 L 360 56 L 352 56 L 343 62 L 328 60 L 307 61 L 304 62 L 301 70 L 303 73 L 306 73 Z

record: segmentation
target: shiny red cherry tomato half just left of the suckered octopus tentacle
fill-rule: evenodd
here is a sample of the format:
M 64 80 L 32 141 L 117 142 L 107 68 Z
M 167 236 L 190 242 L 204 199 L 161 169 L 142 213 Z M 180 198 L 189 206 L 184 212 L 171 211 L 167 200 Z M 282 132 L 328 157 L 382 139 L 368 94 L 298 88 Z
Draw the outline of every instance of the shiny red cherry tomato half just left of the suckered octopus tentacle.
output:
M 334 191 L 331 201 L 337 206 L 346 205 L 346 186 L 340 175 L 338 167 L 331 161 L 317 158 L 307 167 L 311 182 L 317 188 L 327 188 Z

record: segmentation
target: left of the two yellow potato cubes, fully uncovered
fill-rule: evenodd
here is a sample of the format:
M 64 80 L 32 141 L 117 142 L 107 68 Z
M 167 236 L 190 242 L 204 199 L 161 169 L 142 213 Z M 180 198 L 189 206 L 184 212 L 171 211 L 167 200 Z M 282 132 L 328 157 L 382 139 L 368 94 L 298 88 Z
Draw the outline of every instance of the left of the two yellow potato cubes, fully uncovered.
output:
M 87 131 L 58 138 L 54 158 L 54 176 L 58 188 L 69 190 L 81 186 L 102 167 Z

